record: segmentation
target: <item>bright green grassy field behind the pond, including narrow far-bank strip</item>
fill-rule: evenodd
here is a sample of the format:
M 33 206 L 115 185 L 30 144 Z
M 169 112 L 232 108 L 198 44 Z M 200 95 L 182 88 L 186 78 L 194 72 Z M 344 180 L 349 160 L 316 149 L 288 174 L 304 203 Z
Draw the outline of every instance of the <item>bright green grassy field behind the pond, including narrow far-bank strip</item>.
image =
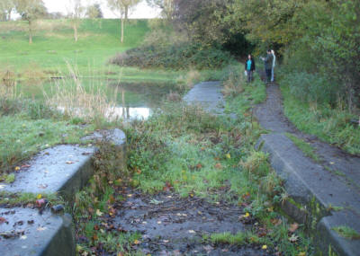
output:
M 110 57 L 134 48 L 149 31 L 146 20 L 126 23 L 120 41 L 119 20 L 83 20 L 78 41 L 67 20 L 40 20 L 29 44 L 26 22 L 0 22 L 0 75 L 9 70 L 18 78 L 67 75 L 68 68 L 82 76 L 111 77 L 127 81 L 171 81 L 177 72 L 108 66 Z

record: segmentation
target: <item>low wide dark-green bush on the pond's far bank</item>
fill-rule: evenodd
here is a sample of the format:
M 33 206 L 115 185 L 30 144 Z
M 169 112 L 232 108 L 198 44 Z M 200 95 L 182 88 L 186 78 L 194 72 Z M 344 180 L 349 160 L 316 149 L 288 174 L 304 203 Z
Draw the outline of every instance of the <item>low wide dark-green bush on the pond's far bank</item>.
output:
M 232 59 L 229 52 L 187 43 L 170 46 L 142 46 L 129 49 L 109 60 L 119 66 L 163 67 L 172 69 L 214 69 L 226 66 Z

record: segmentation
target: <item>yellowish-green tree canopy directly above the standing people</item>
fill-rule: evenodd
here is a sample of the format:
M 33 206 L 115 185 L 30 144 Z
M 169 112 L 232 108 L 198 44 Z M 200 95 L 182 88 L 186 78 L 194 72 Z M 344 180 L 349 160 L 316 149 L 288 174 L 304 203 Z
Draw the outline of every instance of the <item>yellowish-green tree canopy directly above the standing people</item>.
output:
M 285 49 L 299 35 L 296 16 L 311 1 L 234 0 L 228 4 L 225 20 L 233 24 L 233 31 L 246 31 L 247 39 L 260 47 Z

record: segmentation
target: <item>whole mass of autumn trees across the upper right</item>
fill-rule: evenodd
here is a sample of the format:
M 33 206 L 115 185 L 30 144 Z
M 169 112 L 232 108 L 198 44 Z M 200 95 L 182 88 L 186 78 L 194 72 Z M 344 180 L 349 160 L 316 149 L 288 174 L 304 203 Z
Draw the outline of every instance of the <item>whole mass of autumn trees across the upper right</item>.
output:
M 160 7 L 174 28 L 187 31 L 192 41 L 239 56 L 275 49 L 290 75 L 309 74 L 326 81 L 311 82 L 322 86 L 318 93 L 328 95 L 324 103 L 346 102 L 349 110 L 359 109 L 360 1 L 147 1 Z

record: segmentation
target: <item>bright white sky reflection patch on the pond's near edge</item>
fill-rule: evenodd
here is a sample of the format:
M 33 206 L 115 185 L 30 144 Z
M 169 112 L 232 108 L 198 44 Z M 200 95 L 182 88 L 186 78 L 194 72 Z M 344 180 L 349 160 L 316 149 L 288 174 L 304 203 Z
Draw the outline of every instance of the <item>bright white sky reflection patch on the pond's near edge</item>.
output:
M 149 108 L 113 107 L 108 110 L 106 116 L 109 119 L 148 119 L 151 115 Z

